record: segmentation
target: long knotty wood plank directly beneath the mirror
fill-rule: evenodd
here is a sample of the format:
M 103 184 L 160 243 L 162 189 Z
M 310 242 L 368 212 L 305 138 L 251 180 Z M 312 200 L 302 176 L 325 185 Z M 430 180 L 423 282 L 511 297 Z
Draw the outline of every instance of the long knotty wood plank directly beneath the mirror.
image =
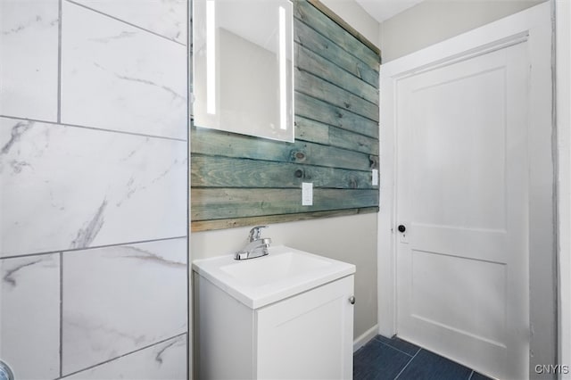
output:
M 262 161 L 294 162 L 330 168 L 376 169 L 378 157 L 334 146 L 304 141 L 284 143 L 236 135 L 215 129 L 193 128 L 191 152 Z

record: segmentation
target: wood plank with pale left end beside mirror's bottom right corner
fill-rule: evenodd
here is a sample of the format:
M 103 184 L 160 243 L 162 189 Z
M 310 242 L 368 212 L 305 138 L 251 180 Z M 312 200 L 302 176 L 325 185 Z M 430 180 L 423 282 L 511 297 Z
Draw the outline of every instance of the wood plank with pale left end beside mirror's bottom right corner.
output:
M 295 116 L 295 139 L 378 155 L 378 139 Z

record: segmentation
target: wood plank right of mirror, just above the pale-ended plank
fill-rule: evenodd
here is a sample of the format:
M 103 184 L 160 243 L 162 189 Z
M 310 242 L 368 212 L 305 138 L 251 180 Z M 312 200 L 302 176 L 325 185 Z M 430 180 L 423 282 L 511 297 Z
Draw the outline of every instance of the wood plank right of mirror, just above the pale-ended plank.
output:
M 295 114 L 361 135 L 378 138 L 378 123 L 312 96 L 295 93 Z

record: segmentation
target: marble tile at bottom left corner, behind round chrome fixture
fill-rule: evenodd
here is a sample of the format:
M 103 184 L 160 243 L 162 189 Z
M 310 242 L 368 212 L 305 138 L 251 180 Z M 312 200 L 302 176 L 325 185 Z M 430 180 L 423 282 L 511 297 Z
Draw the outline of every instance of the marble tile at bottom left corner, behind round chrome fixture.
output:
M 0 260 L 0 358 L 17 379 L 60 375 L 60 255 Z

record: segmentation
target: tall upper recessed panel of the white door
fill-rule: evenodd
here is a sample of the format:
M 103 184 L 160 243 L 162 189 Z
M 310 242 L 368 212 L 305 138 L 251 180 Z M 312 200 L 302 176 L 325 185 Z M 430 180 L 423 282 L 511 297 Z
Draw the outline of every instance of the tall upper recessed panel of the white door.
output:
M 416 78 L 412 92 L 412 123 L 422 128 L 412 129 L 410 150 L 424 167 L 410 178 L 415 219 L 505 229 L 504 70 L 441 71 Z M 442 83 L 436 74 L 461 76 Z

